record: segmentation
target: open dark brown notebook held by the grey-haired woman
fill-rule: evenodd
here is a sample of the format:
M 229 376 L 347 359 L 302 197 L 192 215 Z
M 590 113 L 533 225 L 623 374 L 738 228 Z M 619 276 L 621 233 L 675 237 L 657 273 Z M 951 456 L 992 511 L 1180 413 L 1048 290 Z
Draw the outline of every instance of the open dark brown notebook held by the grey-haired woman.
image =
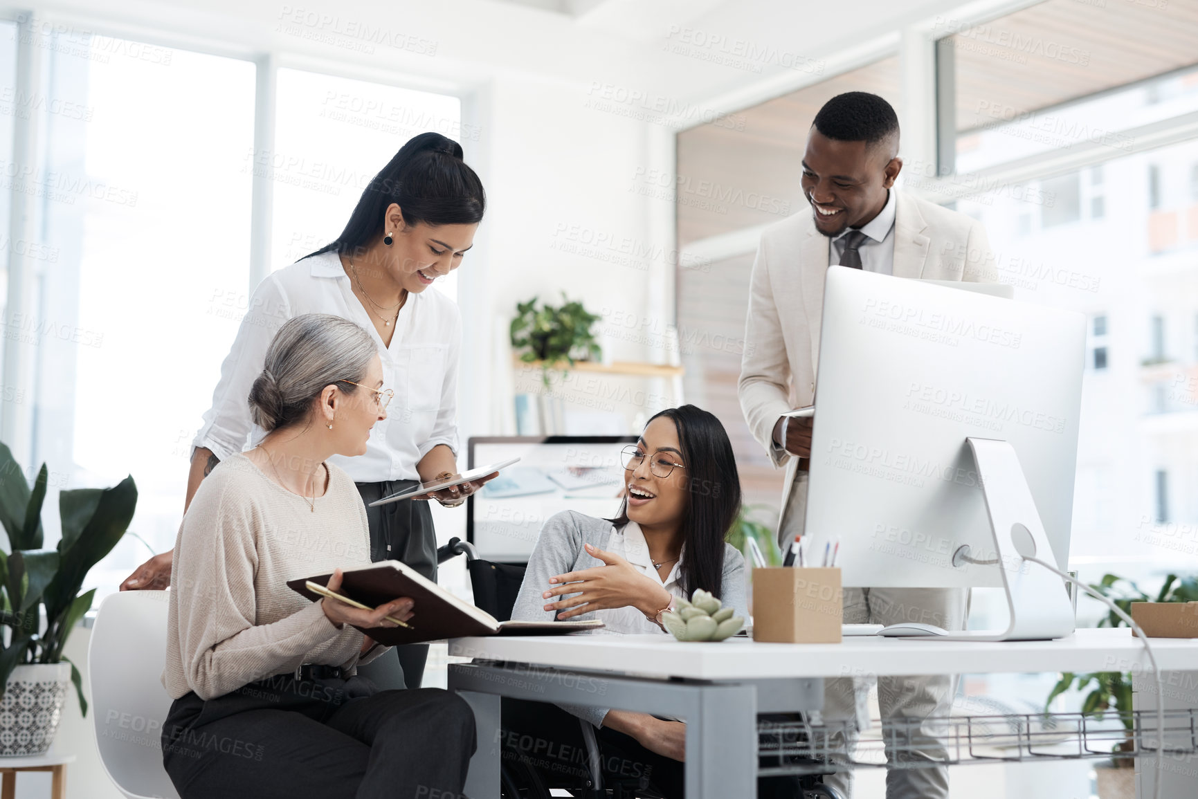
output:
M 288 580 L 288 587 L 313 601 L 319 594 L 304 583 L 311 580 L 328 585 L 331 574 Z M 448 591 L 399 561 L 383 561 L 362 569 L 341 573 L 341 589 L 349 599 L 370 607 L 389 603 L 397 597 L 411 597 L 413 616 L 411 629 L 401 627 L 358 628 L 379 643 L 393 647 L 399 643 L 422 643 L 461 638 L 470 635 L 564 635 L 580 630 L 595 630 L 603 622 L 500 622 L 484 610 L 458 599 Z

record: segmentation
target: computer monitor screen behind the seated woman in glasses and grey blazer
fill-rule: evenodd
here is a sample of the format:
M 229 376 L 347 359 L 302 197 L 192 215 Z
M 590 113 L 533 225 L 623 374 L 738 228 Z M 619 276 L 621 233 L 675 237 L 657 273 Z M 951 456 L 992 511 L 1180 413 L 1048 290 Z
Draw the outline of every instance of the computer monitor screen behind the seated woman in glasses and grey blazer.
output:
M 509 458 L 470 497 L 466 539 L 479 557 L 526 563 L 541 526 L 561 510 L 610 519 L 619 510 L 624 468 L 619 450 L 636 436 L 483 436 L 467 442 L 470 468 Z

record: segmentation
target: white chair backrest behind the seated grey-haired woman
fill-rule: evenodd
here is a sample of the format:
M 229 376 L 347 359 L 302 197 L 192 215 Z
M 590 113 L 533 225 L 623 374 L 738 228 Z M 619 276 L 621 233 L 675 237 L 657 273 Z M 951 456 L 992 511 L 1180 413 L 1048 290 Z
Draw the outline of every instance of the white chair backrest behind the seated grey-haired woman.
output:
M 99 759 L 132 799 L 179 798 L 162 765 L 162 725 L 170 710 L 161 682 L 168 607 L 165 591 L 110 594 L 91 631 L 87 674 Z

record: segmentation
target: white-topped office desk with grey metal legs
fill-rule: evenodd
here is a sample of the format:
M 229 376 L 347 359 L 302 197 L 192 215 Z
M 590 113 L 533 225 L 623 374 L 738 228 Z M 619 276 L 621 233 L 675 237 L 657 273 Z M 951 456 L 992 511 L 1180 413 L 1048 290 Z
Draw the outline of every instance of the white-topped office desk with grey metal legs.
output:
M 1198 671 L 1198 640 L 1154 638 L 1162 671 Z M 449 654 L 501 664 L 449 667 L 449 689 L 474 708 L 478 751 L 466 793 L 498 797 L 500 697 L 613 707 L 685 719 L 686 794 L 755 795 L 756 716 L 816 710 L 823 679 L 876 674 L 1148 670 L 1126 628 L 1059 641 L 973 642 L 848 637 L 842 643 L 685 643 L 667 636 L 473 637 Z

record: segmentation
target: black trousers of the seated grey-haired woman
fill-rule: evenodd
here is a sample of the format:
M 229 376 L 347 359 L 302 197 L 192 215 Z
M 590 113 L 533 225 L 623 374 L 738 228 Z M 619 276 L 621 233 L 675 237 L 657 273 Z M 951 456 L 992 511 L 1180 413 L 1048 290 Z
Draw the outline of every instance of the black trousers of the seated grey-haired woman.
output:
M 162 750 L 182 799 L 460 799 L 474 715 L 440 689 L 284 674 L 175 700 Z

